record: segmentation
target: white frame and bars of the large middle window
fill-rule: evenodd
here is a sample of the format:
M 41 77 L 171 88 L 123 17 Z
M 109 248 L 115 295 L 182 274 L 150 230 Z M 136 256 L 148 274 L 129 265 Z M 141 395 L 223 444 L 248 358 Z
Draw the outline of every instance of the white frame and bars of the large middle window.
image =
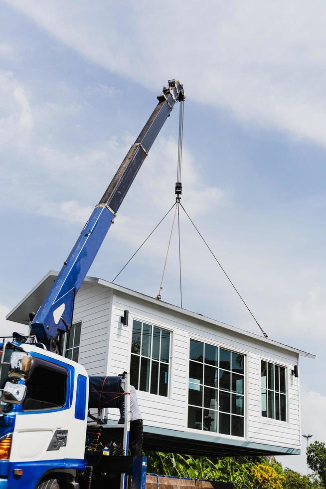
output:
M 190 361 L 195 361 L 195 360 L 190 360 L 190 341 L 191 340 L 194 340 L 194 341 L 199 341 L 201 343 L 207 343 L 211 346 L 216 346 L 218 349 L 223 349 L 223 350 L 228 350 L 230 352 L 233 352 L 233 353 L 239 353 L 240 355 L 243 355 L 243 378 L 244 378 L 244 389 L 243 389 L 243 398 L 244 398 L 244 407 L 243 407 L 243 418 L 244 418 L 244 430 L 243 430 L 243 436 L 237 436 L 237 435 L 232 435 L 231 434 L 231 425 L 230 425 L 230 434 L 229 435 L 226 435 L 224 433 L 219 433 L 219 432 L 214 432 L 214 431 L 206 431 L 204 430 L 203 428 L 201 428 L 201 430 L 197 430 L 195 428 L 189 428 L 188 427 L 188 407 L 189 407 L 189 366 L 190 366 Z M 247 440 L 247 437 L 248 437 L 248 360 L 247 360 L 247 356 L 248 356 L 248 351 L 245 351 L 241 348 L 236 348 L 236 351 L 235 349 L 231 349 L 230 345 L 226 345 L 225 343 L 221 343 L 221 342 L 217 342 L 217 341 L 214 341 L 214 340 L 210 340 L 210 339 L 203 339 L 202 336 L 197 336 L 195 334 L 191 334 L 189 335 L 188 334 L 188 352 L 187 352 L 187 376 L 186 376 L 186 391 L 187 391 L 187 394 L 186 394 L 186 413 L 185 413 L 185 425 L 184 425 L 184 431 L 188 431 L 188 432 L 191 432 L 191 433 L 201 433 L 201 434 L 204 434 L 204 435 L 210 435 L 210 436 L 218 436 L 218 437 L 221 437 L 221 438 L 227 438 L 227 439 L 237 439 L 237 440 Z M 232 358 L 232 357 L 231 357 Z M 197 362 L 197 363 L 201 363 L 201 362 Z M 206 365 L 204 363 L 204 359 L 203 359 L 203 366 Z M 218 364 L 218 370 L 220 369 L 219 367 L 219 364 Z M 224 370 L 224 369 L 222 369 Z M 232 367 L 231 367 L 231 370 L 230 372 L 232 372 Z M 220 410 L 219 410 L 219 375 L 218 375 L 218 387 L 217 387 L 217 393 L 218 393 L 218 409 L 216 410 L 216 413 L 217 413 L 217 416 L 219 416 L 219 413 L 220 413 Z M 204 379 L 203 379 L 203 390 L 204 390 Z M 206 386 L 207 387 L 207 386 Z M 222 391 L 222 392 L 227 392 L 227 391 Z M 204 392 L 203 392 L 203 395 L 204 395 Z M 231 386 L 231 390 L 230 390 L 230 401 L 231 401 L 231 407 L 230 407 L 230 417 L 232 416 L 232 386 Z M 194 406 L 194 405 L 190 405 L 190 406 Z M 200 408 L 199 406 L 194 406 L 194 407 L 198 407 L 199 409 L 201 409 L 202 411 L 204 411 L 206 408 L 204 407 L 204 403 L 202 405 L 202 407 Z M 221 412 L 222 414 L 225 412 L 222 411 Z M 228 414 L 228 413 L 226 413 Z M 237 416 L 237 415 L 236 415 Z M 239 415 L 240 416 L 240 415 Z M 241 416 L 242 417 L 242 416 Z

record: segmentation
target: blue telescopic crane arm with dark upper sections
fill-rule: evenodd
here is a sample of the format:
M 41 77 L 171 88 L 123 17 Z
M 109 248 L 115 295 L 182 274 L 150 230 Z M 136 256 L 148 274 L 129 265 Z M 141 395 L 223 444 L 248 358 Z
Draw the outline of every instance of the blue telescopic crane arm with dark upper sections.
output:
M 58 337 L 69 331 L 76 293 L 94 261 L 134 178 L 173 105 L 184 100 L 178 80 L 169 80 L 158 97 L 159 103 L 113 177 L 99 204 L 85 224 L 77 242 L 31 322 L 37 341 L 58 351 Z

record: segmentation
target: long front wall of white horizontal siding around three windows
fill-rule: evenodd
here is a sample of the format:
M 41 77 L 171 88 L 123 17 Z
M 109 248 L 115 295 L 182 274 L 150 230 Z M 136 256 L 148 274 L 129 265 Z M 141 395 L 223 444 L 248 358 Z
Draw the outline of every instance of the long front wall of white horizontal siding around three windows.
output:
M 108 289 L 110 290 L 110 289 Z M 107 292 L 109 294 L 109 292 Z M 103 292 L 101 297 L 104 298 Z M 131 335 L 133 319 L 144 320 L 169 329 L 171 336 L 170 358 L 170 391 L 167 398 L 139 392 L 138 399 L 148 426 L 156 426 L 180 431 L 191 431 L 187 428 L 187 385 L 188 385 L 188 359 L 189 338 L 215 343 L 225 348 L 244 353 L 246 355 L 246 439 L 250 442 L 276 445 L 280 447 L 300 448 L 299 424 L 299 383 L 291 370 L 297 363 L 297 355 L 292 352 L 264 345 L 262 341 L 251 339 L 236 332 L 228 331 L 222 327 L 210 326 L 208 323 L 186 317 L 181 313 L 165 309 L 160 304 L 155 305 L 146 300 L 137 299 L 122 292 L 113 292 L 112 319 L 109 345 L 109 359 L 107 375 L 117 375 L 129 370 L 131 354 Z M 103 305 L 104 307 L 104 305 Z M 129 310 L 129 326 L 123 326 L 120 316 L 125 309 Z M 110 307 L 106 311 L 106 318 L 110 314 Z M 83 325 L 83 331 L 84 325 Z M 84 333 L 85 335 L 85 333 Z M 87 338 L 91 338 L 88 335 Z M 104 337 L 103 337 L 104 338 Z M 94 340 L 93 340 L 94 341 Z M 84 344 L 86 336 L 83 337 Z M 104 343 L 101 351 L 104 352 Z M 85 347 L 84 347 L 84 352 Z M 84 353 L 86 356 L 86 353 Z M 84 358 L 85 358 L 84 356 Z M 288 422 L 270 420 L 261 417 L 260 407 L 260 360 L 270 360 L 288 368 L 289 406 Z M 97 360 L 100 361 L 99 359 Z M 102 362 L 104 364 L 104 362 Z M 116 416 L 110 413 L 110 417 Z M 193 430 L 198 433 L 197 430 Z M 204 433 L 204 432 L 202 432 Z M 211 433 L 209 434 L 211 436 Z M 224 437 L 223 435 L 218 435 Z M 230 437 L 225 436 L 227 440 Z

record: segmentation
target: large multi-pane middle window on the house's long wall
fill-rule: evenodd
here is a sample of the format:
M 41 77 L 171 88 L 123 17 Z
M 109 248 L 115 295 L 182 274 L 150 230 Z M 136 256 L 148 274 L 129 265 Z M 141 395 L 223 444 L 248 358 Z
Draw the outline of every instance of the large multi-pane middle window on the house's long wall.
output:
M 244 436 L 244 356 L 190 340 L 188 428 Z

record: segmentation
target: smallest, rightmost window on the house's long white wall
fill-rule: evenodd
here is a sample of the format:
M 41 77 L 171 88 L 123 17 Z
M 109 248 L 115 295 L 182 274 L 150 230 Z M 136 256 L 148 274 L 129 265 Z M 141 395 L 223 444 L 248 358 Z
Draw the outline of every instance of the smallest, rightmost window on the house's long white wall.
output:
M 286 421 L 286 368 L 262 360 L 261 382 L 262 416 Z

